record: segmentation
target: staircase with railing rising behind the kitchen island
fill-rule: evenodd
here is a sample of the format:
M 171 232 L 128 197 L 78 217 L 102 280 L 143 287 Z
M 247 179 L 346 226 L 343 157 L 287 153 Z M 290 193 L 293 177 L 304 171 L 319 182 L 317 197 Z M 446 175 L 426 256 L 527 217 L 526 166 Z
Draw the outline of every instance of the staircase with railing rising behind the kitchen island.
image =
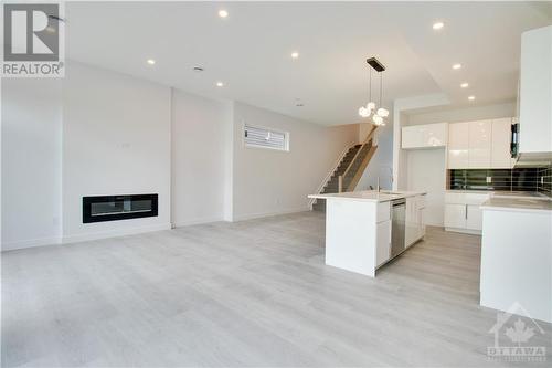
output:
M 370 159 L 378 149 L 378 146 L 373 143 L 374 132 L 375 127 L 368 134 L 362 145 L 354 145 L 349 148 L 320 193 L 339 193 L 354 190 Z M 312 210 L 326 211 L 326 200 L 317 199 L 312 204 Z

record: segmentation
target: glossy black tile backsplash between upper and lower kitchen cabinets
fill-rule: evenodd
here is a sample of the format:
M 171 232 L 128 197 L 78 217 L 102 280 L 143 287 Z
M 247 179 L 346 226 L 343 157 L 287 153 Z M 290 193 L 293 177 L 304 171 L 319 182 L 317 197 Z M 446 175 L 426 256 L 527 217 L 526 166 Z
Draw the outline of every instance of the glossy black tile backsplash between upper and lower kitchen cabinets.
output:
M 550 167 L 519 169 L 452 169 L 448 170 L 447 182 L 448 189 L 542 192 L 548 190 L 550 196 Z M 541 176 L 543 176 L 542 185 Z

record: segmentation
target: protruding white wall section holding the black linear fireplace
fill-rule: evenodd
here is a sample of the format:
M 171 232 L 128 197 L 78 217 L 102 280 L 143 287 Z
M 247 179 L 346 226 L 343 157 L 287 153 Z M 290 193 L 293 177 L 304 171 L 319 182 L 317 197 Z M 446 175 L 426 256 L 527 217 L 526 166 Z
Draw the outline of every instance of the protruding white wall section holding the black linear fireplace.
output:
M 70 63 L 63 84 L 63 240 L 170 228 L 170 88 Z M 158 193 L 159 215 L 83 223 L 84 196 Z

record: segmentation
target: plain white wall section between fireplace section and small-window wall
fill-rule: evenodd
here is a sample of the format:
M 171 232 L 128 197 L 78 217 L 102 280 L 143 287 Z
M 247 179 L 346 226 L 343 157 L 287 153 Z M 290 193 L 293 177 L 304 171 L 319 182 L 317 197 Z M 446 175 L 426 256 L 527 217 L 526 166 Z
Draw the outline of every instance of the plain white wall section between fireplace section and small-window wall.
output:
M 172 94 L 172 223 L 221 221 L 229 194 L 230 103 Z M 231 157 L 231 156 L 230 156 Z

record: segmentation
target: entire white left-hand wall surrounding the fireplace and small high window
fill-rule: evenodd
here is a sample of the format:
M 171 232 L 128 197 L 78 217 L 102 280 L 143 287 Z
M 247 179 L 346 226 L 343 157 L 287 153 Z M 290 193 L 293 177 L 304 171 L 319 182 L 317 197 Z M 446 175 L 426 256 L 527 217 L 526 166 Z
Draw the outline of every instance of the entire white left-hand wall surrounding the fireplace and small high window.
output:
M 308 210 L 359 138 L 76 62 L 3 83 L 4 250 Z M 244 122 L 289 132 L 290 151 L 245 148 Z M 126 193 L 158 193 L 159 215 L 82 222 L 84 196 Z

